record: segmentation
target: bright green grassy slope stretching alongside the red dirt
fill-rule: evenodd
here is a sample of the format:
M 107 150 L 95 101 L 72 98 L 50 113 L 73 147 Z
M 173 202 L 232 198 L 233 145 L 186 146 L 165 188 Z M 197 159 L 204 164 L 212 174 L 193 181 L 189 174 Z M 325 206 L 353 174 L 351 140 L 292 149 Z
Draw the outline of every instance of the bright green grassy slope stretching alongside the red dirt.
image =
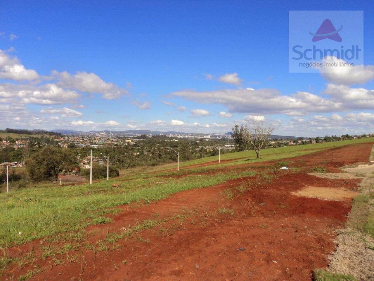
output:
M 253 151 L 236 152 L 222 155 L 223 159 L 249 157 L 249 161 L 236 160 L 227 162 L 232 164 L 251 163 L 253 161 L 267 161 L 309 154 L 316 150 L 351 143 L 369 142 L 373 139 L 359 139 L 354 141 L 321 143 L 315 145 L 290 146 L 284 148 L 265 149 L 260 160 L 254 159 Z M 210 159 L 209 159 L 210 158 Z M 184 162 L 183 166 L 212 161 L 217 157 Z M 227 164 L 221 163 L 221 164 Z M 198 167 L 178 172 L 195 172 L 201 169 L 213 169 L 222 165 Z M 165 169 L 160 167 L 160 170 Z M 172 193 L 193 188 L 209 187 L 227 181 L 253 175 L 253 172 L 217 173 L 215 176 L 187 175 L 183 178 L 160 178 L 160 175 L 171 175 L 176 171 L 160 172 L 159 174 L 133 175 L 134 181 L 122 181 L 123 178 L 100 181 L 90 185 L 51 186 L 36 185 L 0 194 L 0 246 L 22 244 L 33 239 L 42 238 L 58 232 L 77 230 L 98 221 L 97 218 L 107 214 L 106 208 L 144 200 L 159 200 Z M 147 177 L 146 177 L 147 176 Z M 128 177 L 126 177 L 128 178 Z M 113 187 L 111 184 L 120 184 Z M 21 235 L 18 233 L 21 232 Z

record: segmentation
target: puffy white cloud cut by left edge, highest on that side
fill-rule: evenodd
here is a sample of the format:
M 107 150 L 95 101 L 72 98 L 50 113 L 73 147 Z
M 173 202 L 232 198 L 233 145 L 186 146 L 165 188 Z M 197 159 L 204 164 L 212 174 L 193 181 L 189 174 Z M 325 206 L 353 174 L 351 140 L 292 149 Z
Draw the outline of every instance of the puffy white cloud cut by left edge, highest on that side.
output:
M 11 58 L 0 50 L 0 79 L 32 81 L 39 79 L 39 74 L 33 69 L 26 69 L 18 58 Z

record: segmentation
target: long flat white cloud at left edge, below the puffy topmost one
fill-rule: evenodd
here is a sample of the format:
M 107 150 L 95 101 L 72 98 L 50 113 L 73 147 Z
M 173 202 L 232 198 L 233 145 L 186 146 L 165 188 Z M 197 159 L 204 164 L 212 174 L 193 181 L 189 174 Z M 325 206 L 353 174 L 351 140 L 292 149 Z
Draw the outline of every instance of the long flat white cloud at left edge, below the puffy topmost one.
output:
M 64 90 L 55 84 L 42 86 L 0 84 L 0 99 L 8 102 L 34 103 L 40 105 L 57 105 L 74 103 L 79 94 L 76 91 Z

